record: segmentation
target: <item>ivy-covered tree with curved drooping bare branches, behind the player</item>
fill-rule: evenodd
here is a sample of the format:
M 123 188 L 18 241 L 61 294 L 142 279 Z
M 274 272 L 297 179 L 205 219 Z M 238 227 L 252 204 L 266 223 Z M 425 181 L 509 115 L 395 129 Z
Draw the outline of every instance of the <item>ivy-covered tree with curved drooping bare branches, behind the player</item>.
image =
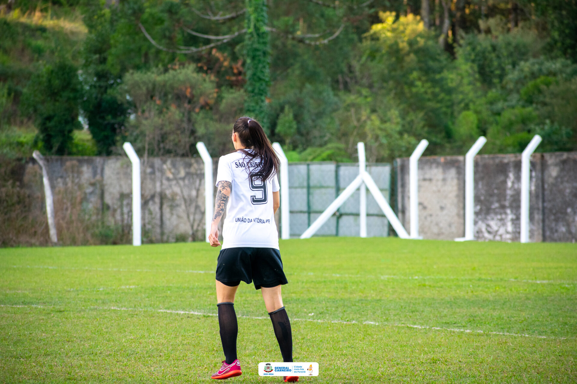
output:
M 221 12 L 211 12 L 211 10 L 215 10 L 215 5 L 213 3 L 207 5 L 207 11 L 204 13 L 198 11 L 195 8 L 187 8 L 187 10 L 192 10 L 192 13 L 196 14 L 197 17 L 200 17 L 204 20 L 218 22 L 219 24 L 235 20 L 242 14 L 245 15 L 245 28 L 239 29 L 238 27 L 233 27 L 231 28 L 232 30 L 230 32 L 223 35 L 209 35 L 207 33 L 194 31 L 192 28 L 188 28 L 186 26 L 181 27 L 181 25 L 191 24 L 192 20 L 184 15 L 178 16 L 178 12 L 171 13 L 173 20 L 171 20 L 171 23 L 168 23 L 170 25 L 167 25 L 167 23 L 164 22 L 162 28 L 159 28 L 159 32 L 162 33 L 155 33 L 156 35 L 163 34 L 164 36 L 168 36 L 168 38 L 165 38 L 161 43 L 152 37 L 152 34 L 149 33 L 150 28 L 145 28 L 143 24 L 144 18 L 151 20 L 154 19 L 153 17 L 149 17 L 149 15 L 145 14 L 144 16 L 147 17 L 142 16 L 140 20 L 138 20 L 138 26 L 144 36 L 150 41 L 150 43 L 159 50 L 164 52 L 171 52 L 173 54 L 184 55 L 203 52 L 207 50 L 207 48 L 213 48 L 217 45 L 227 43 L 228 41 L 235 39 L 235 37 L 244 34 L 245 40 L 242 47 L 242 52 L 243 59 L 245 60 L 246 74 L 245 90 L 247 98 L 245 103 L 245 111 L 249 115 L 254 116 L 256 119 L 260 120 L 265 130 L 270 130 L 268 124 L 269 111 L 267 107 L 269 86 L 271 85 L 269 74 L 269 66 L 271 63 L 269 32 L 276 33 L 287 40 L 294 40 L 303 44 L 309 44 L 313 46 L 327 44 L 329 41 L 334 40 L 337 36 L 340 35 L 345 25 L 348 24 L 350 20 L 358 19 L 359 12 L 368 12 L 368 7 L 370 3 L 373 2 L 373 0 L 367 0 L 360 5 L 358 5 L 356 1 L 346 2 L 344 5 L 338 5 L 338 2 L 335 4 L 325 3 L 320 0 L 306 0 L 303 2 L 307 3 L 308 5 L 314 5 L 317 8 L 320 6 L 320 9 L 327 10 L 326 12 L 330 15 L 329 18 L 332 19 L 336 17 L 340 22 L 340 26 L 338 26 L 336 29 L 333 29 L 332 31 L 331 29 L 325 28 L 324 31 L 319 33 L 303 33 L 303 31 L 297 31 L 297 33 L 295 33 L 290 31 L 290 28 L 284 28 L 287 26 L 287 20 L 291 19 L 291 17 L 284 17 L 284 20 L 281 20 L 279 23 L 283 26 L 283 28 L 275 28 L 268 23 L 268 9 L 265 0 L 246 0 L 244 9 L 237 10 L 222 16 Z M 228 6 L 231 7 L 230 5 Z M 290 3 L 289 7 L 294 9 L 294 5 L 292 3 Z M 188 13 L 192 14 L 191 12 Z M 156 17 L 156 20 L 158 20 L 158 17 Z M 324 20 L 322 24 L 324 24 L 323 26 L 326 26 Z M 177 31 L 173 30 L 171 33 L 168 33 L 167 29 L 173 25 L 177 25 Z M 186 34 L 182 35 L 182 32 L 186 32 Z M 332 35 L 329 35 L 329 33 L 332 33 Z M 183 45 L 184 39 L 181 37 L 181 35 L 185 36 L 186 39 L 188 39 L 190 35 L 195 36 L 196 38 L 200 37 L 201 39 L 208 39 L 211 40 L 212 43 L 200 46 Z

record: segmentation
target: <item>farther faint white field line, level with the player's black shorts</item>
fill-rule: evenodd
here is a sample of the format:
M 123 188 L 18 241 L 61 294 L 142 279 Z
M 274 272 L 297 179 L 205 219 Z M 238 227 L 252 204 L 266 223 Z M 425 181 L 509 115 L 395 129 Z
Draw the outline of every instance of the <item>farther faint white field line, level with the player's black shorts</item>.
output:
M 71 271 L 119 271 L 119 272 L 167 272 L 167 273 L 215 273 L 215 271 L 194 271 L 176 269 L 167 271 L 165 269 L 128 269 L 128 268 L 73 268 L 73 267 L 54 267 L 49 265 L 12 265 L 12 268 L 41 268 L 41 269 L 65 269 Z M 463 276 L 395 276 L 395 275 L 349 275 L 346 273 L 287 273 L 293 276 L 329 276 L 329 277 L 358 277 L 362 279 L 407 279 L 407 280 L 430 280 L 430 279 L 451 279 L 451 280 L 477 280 L 480 282 L 518 282 L 518 283 L 535 283 L 535 284 L 577 284 L 571 280 L 522 280 L 522 279 L 507 279 L 506 277 L 496 279 L 494 277 L 463 277 Z M 131 287 L 132 288 L 132 287 Z

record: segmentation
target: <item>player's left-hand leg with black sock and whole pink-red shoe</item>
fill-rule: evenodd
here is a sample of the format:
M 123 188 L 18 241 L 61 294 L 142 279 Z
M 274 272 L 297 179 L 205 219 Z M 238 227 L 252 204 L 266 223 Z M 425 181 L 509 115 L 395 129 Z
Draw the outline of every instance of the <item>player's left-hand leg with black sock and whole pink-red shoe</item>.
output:
M 234 295 L 238 283 L 227 286 L 216 280 L 216 306 L 218 306 L 218 324 L 220 341 L 224 352 L 224 361 L 220 370 L 213 374 L 213 379 L 227 379 L 242 374 L 241 363 L 237 359 L 237 314 L 234 311 Z

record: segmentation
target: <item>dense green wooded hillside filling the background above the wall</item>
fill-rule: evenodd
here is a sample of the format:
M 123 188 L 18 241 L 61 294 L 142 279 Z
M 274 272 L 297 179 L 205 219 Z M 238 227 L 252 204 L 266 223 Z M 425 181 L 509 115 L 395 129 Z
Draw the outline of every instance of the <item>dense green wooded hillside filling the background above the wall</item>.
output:
M 16 140 L 8 145 L 12 154 L 31 148 L 14 132 L 29 135 L 31 120 L 39 121 L 24 108 L 21 101 L 29 97 L 23 90 L 44 67 L 62 60 L 81 69 L 83 95 L 76 104 L 98 154 L 118 153 L 126 138 L 140 140 L 141 151 L 144 142 L 155 142 L 148 154 L 194 154 L 199 139 L 213 154 L 227 153 L 231 123 L 245 113 L 263 123 L 271 140 L 294 149 L 295 159 L 308 148 L 321 155 L 307 158 L 352 158 L 363 140 L 371 161 L 391 161 L 409 155 L 422 138 L 429 140 L 430 154 L 462 154 L 478 135 L 491 137 L 484 153 L 519 151 L 536 133 L 544 137 L 538 150 L 577 149 L 575 0 L 453 2 L 446 51 L 438 43 L 443 9 L 432 1 L 429 29 L 415 16 L 419 1 L 77 3 L 18 1 L 20 9 L 0 16 L 0 124 L 16 127 L 3 134 Z M 245 7 L 248 12 L 226 21 L 193 12 L 229 14 Z M 166 49 L 153 45 L 139 23 Z M 227 35 L 242 28 L 245 35 L 211 50 L 175 52 L 215 42 L 187 30 Z M 327 44 L 304 44 L 338 29 Z M 126 121 L 136 112 L 121 96 L 126 74 L 166 73 L 169 66 L 194 66 L 204 74 L 218 89 L 207 96 L 212 104 L 190 115 L 186 103 L 174 103 L 179 112 L 170 112 L 165 97 L 153 105 L 156 117 L 134 113 Z M 156 121 L 149 127 L 154 137 L 136 130 L 142 119 Z M 68 153 L 91 153 L 90 145 L 73 149 L 74 143 Z M 323 157 L 323 148 L 333 154 Z

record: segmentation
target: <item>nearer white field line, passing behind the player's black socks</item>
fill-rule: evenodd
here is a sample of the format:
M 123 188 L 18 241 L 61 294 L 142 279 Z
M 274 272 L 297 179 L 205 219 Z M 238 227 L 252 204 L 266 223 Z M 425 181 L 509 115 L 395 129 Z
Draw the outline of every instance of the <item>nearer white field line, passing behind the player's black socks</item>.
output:
M 33 308 L 45 308 L 40 305 L 0 305 L 0 307 L 33 307 Z M 138 309 L 138 308 L 125 308 L 125 307 L 91 307 L 93 309 L 100 310 L 115 310 L 115 311 L 154 311 L 159 313 L 174 313 L 174 314 L 190 314 L 190 315 L 200 315 L 200 316 L 218 316 L 216 313 L 206 313 L 201 311 L 181 311 L 181 310 L 170 310 L 170 309 Z M 264 316 L 243 316 L 238 315 L 237 317 L 249 318 L 254 320 L 269 320 L 269 317 Z M 464 332 L 464 333 L 478 333 L 478 334 L 498 334 L 500 336 L 517 336 L 517 337 L 534 337 L 535 339 L 554 339 L 554 340 L 567 340 L 567 337 L 556 337 L 556 336 L 538 336 L 534 334 L 525 333 L 509 333 L 509 332 L 494 332 L 485 330 L 471 330 L 471 329 L 459 329 L 459 328 L 443 328 L 438 326 L 427 326 L 427 325 L 414 325 L 414 324 L 396 324 L 396 323 L 379 323 L 374 321 L 363 321 L 361 323 L 357 321 L 344 321 L 344 320 L 316 320 L 316 319 L 303 319 L 303 318 L 291 318 L 292 321 L 311 321 L 319 323 L 339 323 L 339 324 L 365 324 L 365 325 L 381 325 L 381 326 L 395 326 L 400 328 L 416 328 L 416 329 L 432 329 L 432 330 L 445 330 L 449 332 Z M 572 337 L 570 339 L 573 339 Z

